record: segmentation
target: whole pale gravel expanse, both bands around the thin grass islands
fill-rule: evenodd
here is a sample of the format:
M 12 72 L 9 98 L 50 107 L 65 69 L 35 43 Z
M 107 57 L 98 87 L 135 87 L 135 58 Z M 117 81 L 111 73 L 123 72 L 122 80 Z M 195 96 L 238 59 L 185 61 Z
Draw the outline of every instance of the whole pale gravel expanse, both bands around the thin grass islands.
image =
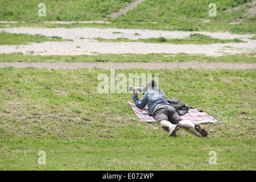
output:
M 229 32 L 183 32 L 160 30 L 137 30 L 118 28 L 0 28 L 0 31 L 16 34 L 42 34 L 46 36 L 60 36 L 72 39 L 73 42 L 43 42 L 31 43 L 23 46 L 0 46 L 0 53 L 22 52 L 35 55 L 92 55 L 95 53 L 190 53 L 207 56 L 220 56 L 225 53 L 244 53 L 256 50 L 256 40 L 250 40 L 253 34 L 238 35 Z M 118 32 L 118 34 L 113 34 Z M 135 35 L 135 33 L 139 35 Z M 217 44 L 155 44 L 142 42 L 106 43 L 92 40 L 93 38 L 128 38 L 147 39 L 163 36 L 167 39 L 182 39 L 190 34 L 204 34 L 218 39 L 242 39 L 246 43 L 217 43 Z M 85 39 L 80 39 L 85 38 Z

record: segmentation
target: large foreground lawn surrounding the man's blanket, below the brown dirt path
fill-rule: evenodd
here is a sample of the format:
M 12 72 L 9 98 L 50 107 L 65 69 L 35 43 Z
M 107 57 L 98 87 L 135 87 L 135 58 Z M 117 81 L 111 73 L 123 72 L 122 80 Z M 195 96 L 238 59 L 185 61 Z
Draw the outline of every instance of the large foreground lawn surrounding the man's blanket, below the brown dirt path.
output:
M 130 93 L 97 93 L 103 69 L 0 69 L 0 169 L 255 169 L 255 70 L 118 69 L 159 73 L 168 98 L 218 120 L 207 138 L 138 120 Z M 139 95 L 141 97 L 141 95 Z M 46 151 L 46 165 L 38 152 Z M 209 151 L 217 164 L 208 164 Z

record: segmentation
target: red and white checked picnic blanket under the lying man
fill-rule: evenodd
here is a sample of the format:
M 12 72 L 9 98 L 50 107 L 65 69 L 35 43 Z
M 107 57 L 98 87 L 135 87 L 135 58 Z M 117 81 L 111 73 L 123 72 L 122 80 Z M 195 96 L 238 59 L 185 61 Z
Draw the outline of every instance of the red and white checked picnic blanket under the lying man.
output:
M 131 108 L 135 111 L 135 114 L 139 117 L 141 121 L 146 122 L 156 122 L 153 117 L 148 115 L 147 106 L 143 109 L 139 109 L 135 104 L 127 101 Z M 189 108 L 188 113 L 180 116 L 182 119 L 191 121 L 194 124 L 199 125 L 200 123 L 216 123 L 218 122 L 215 118 L 211 117 L 203 110 L 197 110 L 195 107 Z

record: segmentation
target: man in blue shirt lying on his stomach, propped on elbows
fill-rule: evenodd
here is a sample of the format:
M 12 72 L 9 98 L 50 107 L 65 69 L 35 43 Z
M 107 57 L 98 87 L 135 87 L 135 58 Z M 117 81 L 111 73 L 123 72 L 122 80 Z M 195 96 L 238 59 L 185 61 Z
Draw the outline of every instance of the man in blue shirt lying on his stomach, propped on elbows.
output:
M 133 88 L 133 101 L 139 109 L 148 106 L 149 114 L 159 122 L 162 127 L 167 127 L 170 131 L 169 136 L 174 136 L 179 126 L 195 129 L 203 137 L 207 137 L 207 131 L 201 129 L 199 125 L 194 125 L 191 121 L 186 121 L 180 117 L 177 111 L 167 101 L 166 94 L 159 89 L 154 80 L 148 81 L 146 92 L 141 100 L 138 98 L 138 92 Z

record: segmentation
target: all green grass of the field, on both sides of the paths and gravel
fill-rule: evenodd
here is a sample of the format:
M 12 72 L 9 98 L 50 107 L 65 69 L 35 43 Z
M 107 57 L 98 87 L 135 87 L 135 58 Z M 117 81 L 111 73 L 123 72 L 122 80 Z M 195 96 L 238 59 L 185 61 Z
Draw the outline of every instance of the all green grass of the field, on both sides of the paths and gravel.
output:
M 256 34 L 255 16 L 248 14 L 251 6 L 246 5 L 251 0 L 147 0 L 125 15 L 109 18 L 133 1 L 44 0 L 46 16 L 39 17 L 38 4 L 42 1 L 3 0 L 0 1 L 0 21 L 20 23 L 0 23 L 0 27 L 139 28 Z M 216 3 L 216 17 L 209 16 L 209 3 Z M 226 11 L 240 5 L 245 6 Z M 43 23 L 87 20 L 110 23 Z M 242 23 L 230 24 L 237 21 Z M 255 40 L 255 36 L 250 39 Z M 185 39 L 97 40 L 172 44 L 242 42 L 240 39 L 213 39 L 199 32 Z M 4 47 L 46 41 L 72 40 L 0 33 L 0 45 Z M 232 46 L 224 48 L 234 49 Z M 93 52 L 94 55 L 40 56 L 30 53 L 34 52 L 1 53 L 0 62 L 256 63 L 255 49 L 223 56 L 97 52 Z M 100 73 L 110 75 L 109 70 L 98 68 L 0 68 L 0 170 L 255 171 L 255 69 L 115 69 L 115 74 L 126 76 L 158 73 L 159 87 L 167 98 L 178 98 L 218 120 L 218 123 L 201 125 L 208 131 L 206 138 L 185 128 L 177 131 L 176 137 L 168 137 L 168 131 L 158 123 L 139 121 L 127 104 L 132 101 L 132 93 L 97 92 Z M 46 165 L 38 164 L 39 151 L 46 152 Z M 217 153 L 217 164 L 209 164 L 210 151 Z

